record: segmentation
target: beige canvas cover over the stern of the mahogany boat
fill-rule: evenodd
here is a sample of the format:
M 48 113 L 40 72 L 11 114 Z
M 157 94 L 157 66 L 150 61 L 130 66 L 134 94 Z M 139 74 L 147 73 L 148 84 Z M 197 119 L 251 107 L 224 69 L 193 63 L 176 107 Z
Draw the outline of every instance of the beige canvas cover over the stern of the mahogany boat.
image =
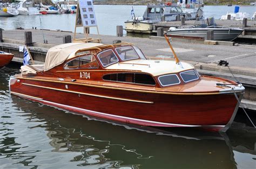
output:
M 44 71 L 62 64 L 66 59 L 75 57 L 78 50 L 96 47 L 103 44 L 99 43 L 69 43 L 51 47 L 45 58 Z

